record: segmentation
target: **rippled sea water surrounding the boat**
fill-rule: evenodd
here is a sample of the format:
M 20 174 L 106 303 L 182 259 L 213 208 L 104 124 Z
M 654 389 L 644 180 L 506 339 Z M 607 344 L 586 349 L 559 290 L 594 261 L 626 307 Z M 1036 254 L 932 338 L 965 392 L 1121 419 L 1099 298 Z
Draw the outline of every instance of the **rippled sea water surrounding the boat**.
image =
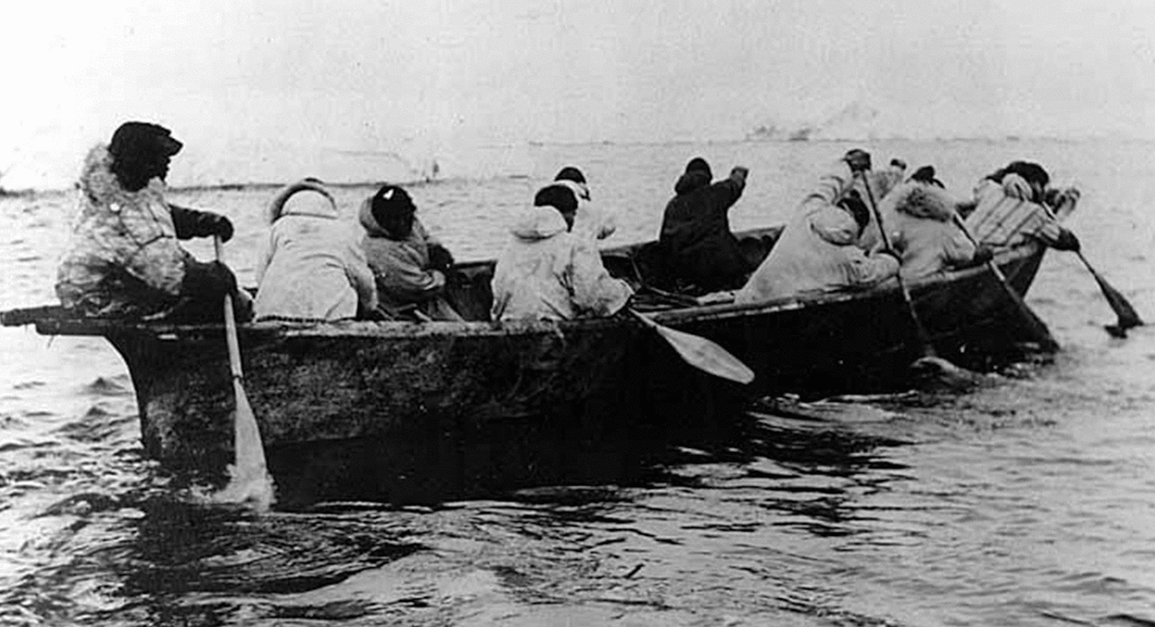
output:
M 490 257 L 539 180 L 574 164 L 618 211 L 609 243 L 626 243 L 656 234 L 693 156 L 720 176 L 751 167 L 743 228 L 781 221 L 847 148 L 536 146 L 512 151 L 528 176 L 412 195 L 459 258 Z M 1087 257 L 1155 322 L 1155 145 L 867 148 L 933 163 L 962 192 L 1011 159 L 1042 161 L 1083 190 L 1070 226 Z M 338 201 L 351 211 L 371 191 Z M 174 199 L 234 220 L 229 260 L 251 284 L 271 194 Z M 0 309 L 54 301 L 74 202 L 0 199 Z M 1068 254 L 1048 256 L 1028 302 L 1064 350 L 968 394 L 755 403 L 709 433 L 627 443 L 646 453 L 620 471 L 266 515 L 202 505 L 143 458 L 132 383 L 104 340 L 0 328 L 0 624 L 1155 625 L 1155 327 L 1109 338 L 1113 315 Z

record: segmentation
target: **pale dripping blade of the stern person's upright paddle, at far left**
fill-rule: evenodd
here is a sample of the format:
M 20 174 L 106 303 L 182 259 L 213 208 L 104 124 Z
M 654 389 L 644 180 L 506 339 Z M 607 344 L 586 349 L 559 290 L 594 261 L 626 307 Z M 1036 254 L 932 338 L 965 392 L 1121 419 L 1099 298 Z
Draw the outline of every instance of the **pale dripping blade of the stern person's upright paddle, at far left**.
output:
M 264 464 L 264 448 L 256 426 L 256 416 L 248 405 L 240 382 L 233 382 L 237 394 L 233 446 L 234 463 L 229 466 L 229 485 L 214 496 L 217 503 L 252 503 L 258 509 L 267 511 L 274 503 L 273 477 Z

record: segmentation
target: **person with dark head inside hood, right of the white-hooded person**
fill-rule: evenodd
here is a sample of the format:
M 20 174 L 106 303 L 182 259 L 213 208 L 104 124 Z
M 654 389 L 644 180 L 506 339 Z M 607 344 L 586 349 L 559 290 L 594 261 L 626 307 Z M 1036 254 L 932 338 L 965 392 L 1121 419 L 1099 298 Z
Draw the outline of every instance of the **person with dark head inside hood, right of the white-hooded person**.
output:
M 396 186 L 382 186 L 362 203 L 362 245 L 381 308 L 390 317 L 411 311 L 420 319 L 461 320 L 445 299 L 453 255 L 430 236 L 416 213 L 409 192 Z

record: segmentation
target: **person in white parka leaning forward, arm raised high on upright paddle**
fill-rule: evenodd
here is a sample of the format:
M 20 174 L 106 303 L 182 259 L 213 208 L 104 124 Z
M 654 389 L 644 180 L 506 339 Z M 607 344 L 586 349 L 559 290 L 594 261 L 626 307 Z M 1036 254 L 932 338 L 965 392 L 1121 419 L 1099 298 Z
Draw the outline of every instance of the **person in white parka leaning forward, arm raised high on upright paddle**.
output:
M 867 254 L 860 248 L 871 211 L 854 186 L 854 172 L 869 168 L 870 156 L 851 151 L 835 173 L 821 177 L 766 260 L 735 296 L 736 303 L 865 289 L 899 272 L 897 251 Z

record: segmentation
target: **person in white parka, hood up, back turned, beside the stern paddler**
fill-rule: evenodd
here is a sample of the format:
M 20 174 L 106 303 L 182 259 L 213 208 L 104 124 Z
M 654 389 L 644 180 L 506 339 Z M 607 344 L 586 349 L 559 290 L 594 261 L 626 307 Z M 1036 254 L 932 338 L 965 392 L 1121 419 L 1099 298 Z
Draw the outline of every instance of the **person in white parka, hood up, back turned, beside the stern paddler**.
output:
M 256 260 L 258 320 L 343 320 L 377 309 L 357 232 L 320 181 L 282 188 L 268 211 L 269 236 Z

